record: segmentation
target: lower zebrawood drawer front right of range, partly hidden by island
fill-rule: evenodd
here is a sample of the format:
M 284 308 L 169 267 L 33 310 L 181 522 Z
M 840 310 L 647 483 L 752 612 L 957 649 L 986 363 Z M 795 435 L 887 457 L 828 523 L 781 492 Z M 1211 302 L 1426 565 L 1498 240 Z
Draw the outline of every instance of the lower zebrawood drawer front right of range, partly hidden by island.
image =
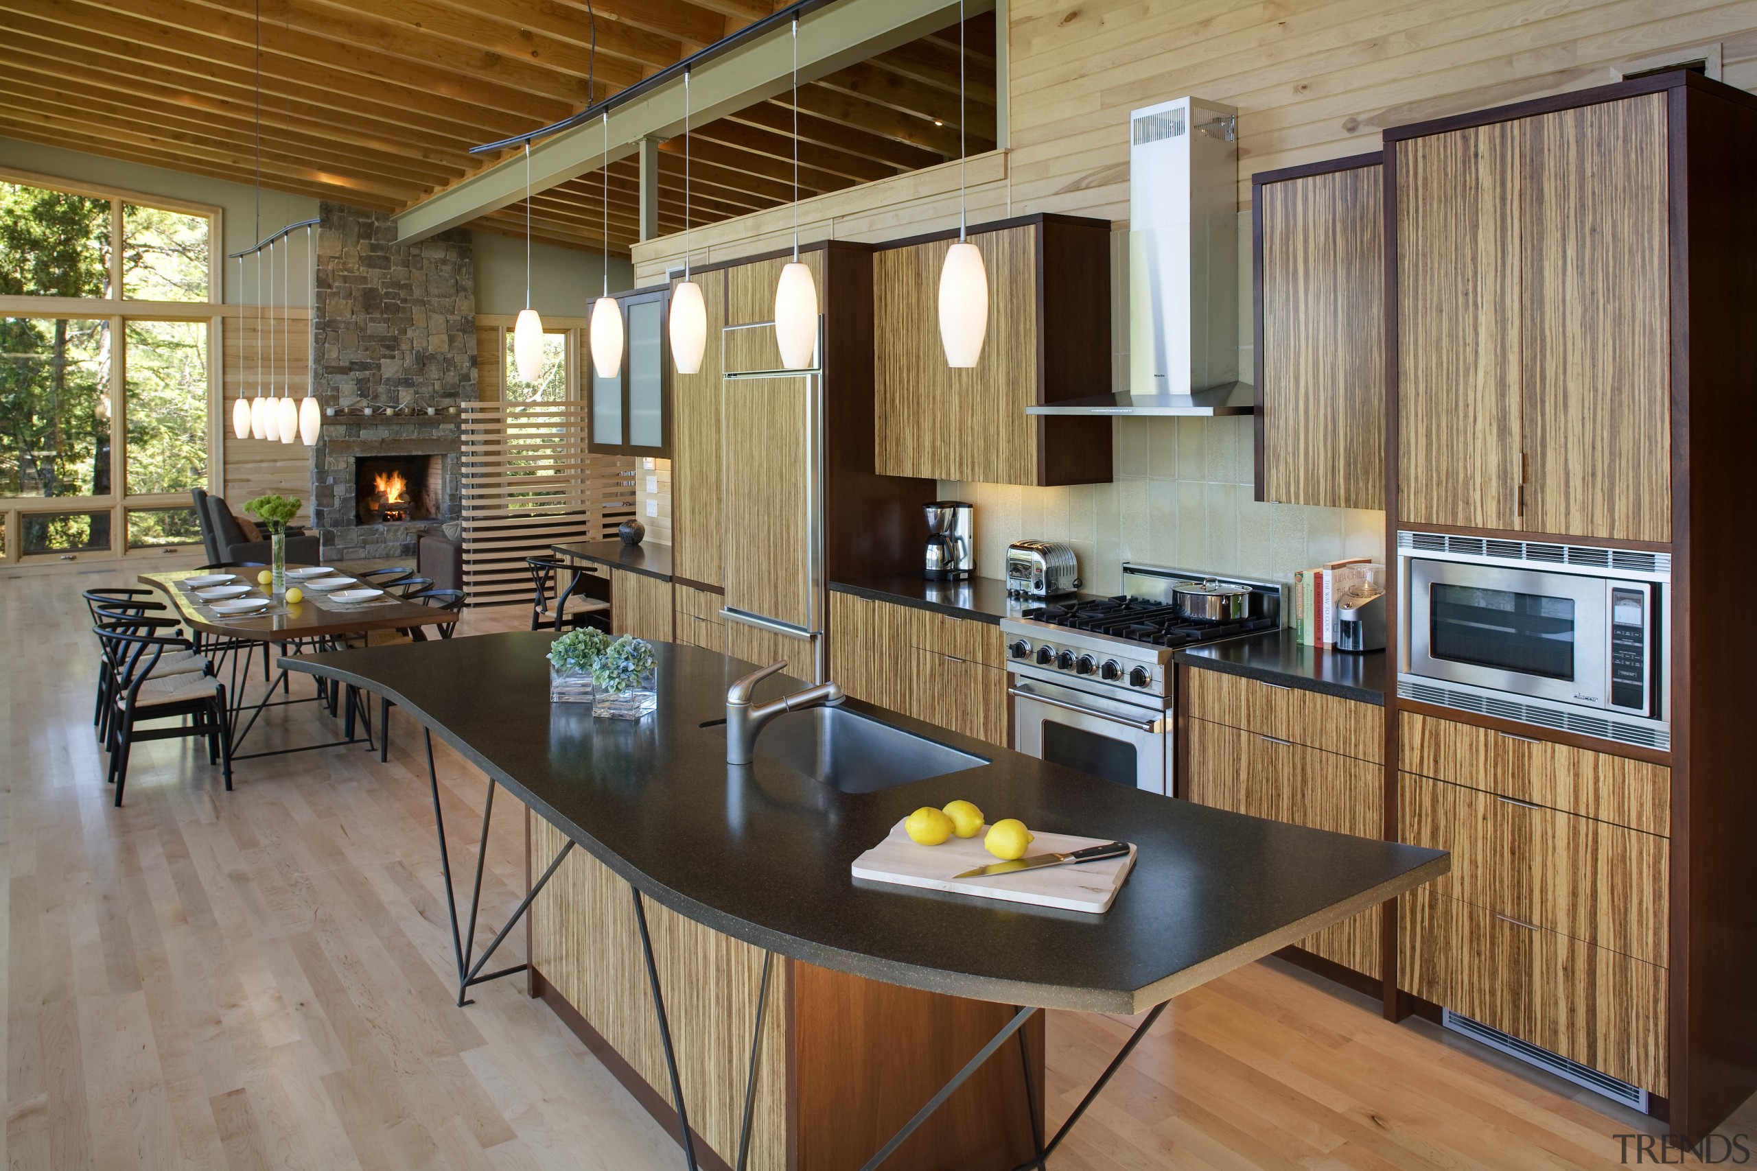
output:
M 1379 765 L 1205 720 L 1189 722 L 1189 801 L 1358 837 L 1381 837 L 1385 829 Z M 1379 976 L 1379 908 L 1307 936 L 1300 946 Z

